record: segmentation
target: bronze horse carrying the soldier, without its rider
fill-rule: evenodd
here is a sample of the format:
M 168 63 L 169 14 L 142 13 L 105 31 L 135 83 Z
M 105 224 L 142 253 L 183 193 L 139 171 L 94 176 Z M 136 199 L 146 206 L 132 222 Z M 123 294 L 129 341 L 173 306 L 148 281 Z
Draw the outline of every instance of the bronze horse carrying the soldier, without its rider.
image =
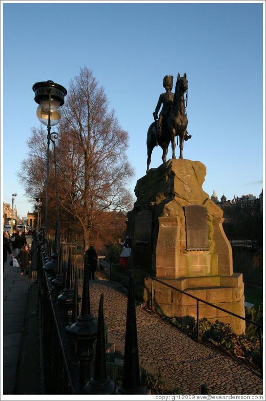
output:
M 180 147 L 180 159 L 183 159 L 183 144 L 184 140 L 191 138 L 191 136 L 187 135 L 187 123 L 188 120 L 186 118 L 185 105 L 184 105 L 184 93 L 187 91 L 187 79 L 186 73 L 184 73 L 184 77 L 180 76 L 180 73 L 177 75 L 176 87 L 175 87 L 175 95 L 174 101 L 172 104 L 172 108 L 169 113 L 163 119 L 162 125 L 162 135 L 158 138 L 158 144 L 163 149 L 163 162 L 166 162 L 166 155 L 168 152 L 168 146 L 171 142 L 172 144 L 172 159 L 175 159 L 175 137 L 179 136 L 179 147 Z M 153 148 L 156 146 L 156 127 L 157 121 L 154 121 L 148 128 L 147 132 L 147 170 L 149 171 L 149 165 L 151 162 L 151 153 Z M 177 141 L 178 143 L 178 141 Z

